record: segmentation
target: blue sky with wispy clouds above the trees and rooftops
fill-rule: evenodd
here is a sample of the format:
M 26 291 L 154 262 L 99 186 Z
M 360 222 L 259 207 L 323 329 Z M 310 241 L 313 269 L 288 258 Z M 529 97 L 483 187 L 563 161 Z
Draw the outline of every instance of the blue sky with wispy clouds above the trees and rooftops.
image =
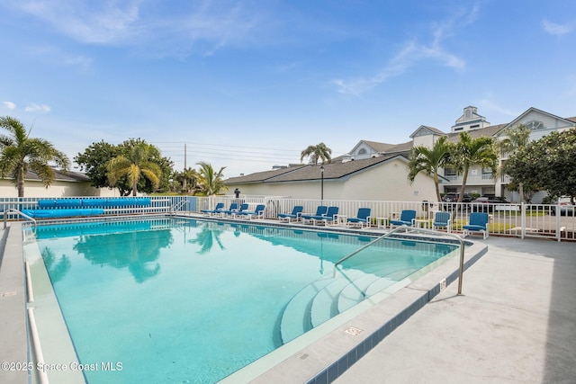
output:
M 361 139 L 576 116 L 573 0 L 0 2 L 0 115 L 70 159 L 144 138 L 226 177 Z

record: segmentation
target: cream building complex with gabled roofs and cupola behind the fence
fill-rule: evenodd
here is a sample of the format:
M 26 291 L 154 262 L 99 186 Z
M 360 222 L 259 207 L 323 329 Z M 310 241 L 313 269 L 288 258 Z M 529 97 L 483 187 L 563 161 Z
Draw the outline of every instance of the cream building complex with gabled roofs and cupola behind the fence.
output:
M 377 141 L 360 140 L 344 156 L 338 156 L 330 164 L 292 165 L 282 169 L 266 171 L 226 180 L 231 190 L 238 188 L 246 194 L 292 196 L 297 198 L 320 198 L 342 200 L 384 200 L 384 201 L 436 201 L 432 177 L 419 174 L 414 183 L 408 181 L 408 159 L 410 148 L 415 146 L 433 147 L 438 138 L 447 136 L 452 142 L 459 140 L 461 132 L 468 132 L 472 138 L 505 138 L 508 128 L 524 124 L 532 130 L 530 140 L 542 138 L 553 130 L 562 131 L 574 128 L 576 117 L 561 118 L 552 113 L 529 108 L 509 123 L 491 125 L 476 107 L 464 108 L 462 116 L 455 121 L 451 131 L 421 125 L 410 135 L 410 141 L 401 144 L 388 144 Z M 509 154 L 500 154 L 500 165 Z M 440 191 L 461 192 L 462 175 L 454 169 L 443 169 Z M 507 189 L 509 178 L 495 175 L 491 169 L 473 166 L 468 174 L 464 192 L 478 195 L 498 195 L 511 201 L 520 201 L 518 194 Z M 545 192 L 538 193 L 533 202 L 539 202 Z

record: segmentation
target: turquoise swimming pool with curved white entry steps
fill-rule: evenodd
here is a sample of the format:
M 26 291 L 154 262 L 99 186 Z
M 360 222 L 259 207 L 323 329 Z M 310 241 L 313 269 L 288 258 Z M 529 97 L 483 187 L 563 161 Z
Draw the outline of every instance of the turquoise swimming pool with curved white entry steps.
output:
M 387 240 L 333 275 L 336 261 L 371 240 L 121 220 L 39 226 L 24 252 L 40 254 L 79 362 L 100 368 L 83 371 L 88 382 L 216 382 L 355 301 L 406 285 L 455 248 Z

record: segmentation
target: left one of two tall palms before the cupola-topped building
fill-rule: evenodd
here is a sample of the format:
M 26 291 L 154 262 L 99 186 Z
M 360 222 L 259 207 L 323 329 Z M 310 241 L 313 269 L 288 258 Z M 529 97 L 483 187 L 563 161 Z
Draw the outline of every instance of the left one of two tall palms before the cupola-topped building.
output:
M 410 163 L 408 165 L 410 172 L 408 179 L 410 183 L 414 182 L 416 175 L 420 172 L 434 177 L 434 184 L 436 186 L 436 197 L 438 202 L 441 201 L 440 197 L 440 179 L 438 177 L 438 170 L 444 168 L 450 159 L 451 148 L 454 144 L 447 141 L 446 136 L 438 138 L 434 143 L 434 147 L 418 146 L 412 147 L 410 150 Z

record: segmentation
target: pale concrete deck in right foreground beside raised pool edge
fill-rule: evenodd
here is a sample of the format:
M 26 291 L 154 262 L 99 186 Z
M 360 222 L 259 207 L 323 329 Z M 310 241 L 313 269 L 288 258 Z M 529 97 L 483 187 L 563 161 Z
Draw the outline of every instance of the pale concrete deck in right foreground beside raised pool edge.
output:
M 489 237 L 488 253 L 338 384 L 576 382 L 576 244 Z

